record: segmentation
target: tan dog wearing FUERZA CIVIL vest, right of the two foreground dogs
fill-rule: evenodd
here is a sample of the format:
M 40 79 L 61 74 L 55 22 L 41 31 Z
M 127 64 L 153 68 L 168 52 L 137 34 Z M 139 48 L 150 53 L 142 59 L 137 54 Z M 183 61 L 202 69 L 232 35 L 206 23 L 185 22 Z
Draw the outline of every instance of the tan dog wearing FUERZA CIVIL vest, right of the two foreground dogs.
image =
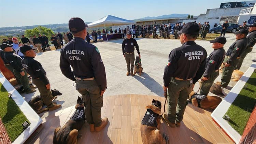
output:
M 141 138 L 143 144 L 168 144 L 169 136 L 161 134 L 161 102 L 152 100 L 152 104 L 146 106 L 146 114 L 141 122 Z

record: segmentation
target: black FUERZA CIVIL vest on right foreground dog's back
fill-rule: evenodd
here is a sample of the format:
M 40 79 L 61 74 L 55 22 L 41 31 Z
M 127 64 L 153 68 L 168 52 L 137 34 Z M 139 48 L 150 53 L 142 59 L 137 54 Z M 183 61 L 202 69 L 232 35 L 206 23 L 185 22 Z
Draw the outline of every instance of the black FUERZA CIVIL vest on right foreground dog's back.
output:
M 141 121 L 141 124 L 142 125 L 147 125 L 147 126 L 151 126 L 151 127 L 157 127 L 157 117 L 159 115 L 154 113 L 151 109 L 147 109 L 142 121 Z

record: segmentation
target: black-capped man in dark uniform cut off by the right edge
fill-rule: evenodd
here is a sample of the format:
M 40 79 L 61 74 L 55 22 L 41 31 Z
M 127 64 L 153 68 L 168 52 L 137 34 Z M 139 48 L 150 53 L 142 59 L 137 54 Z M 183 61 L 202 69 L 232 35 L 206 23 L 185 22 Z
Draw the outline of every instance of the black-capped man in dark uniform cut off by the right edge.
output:
M 249 29 L 248 29 L 249 33 L 246 36 L 248 44 L 246 45 L 246 48 L 245 48 L 244 52 L 241 54 L 240 59 L 237 63 L 236 69 L 238 69 L 238 70 L 241 68 L 244 58 L 246 57 L 246 55 L 248 53 L 252 52 L 253 46 L 256 43 L 256 23 L 254 23 L 248 27 L 249 27 Z

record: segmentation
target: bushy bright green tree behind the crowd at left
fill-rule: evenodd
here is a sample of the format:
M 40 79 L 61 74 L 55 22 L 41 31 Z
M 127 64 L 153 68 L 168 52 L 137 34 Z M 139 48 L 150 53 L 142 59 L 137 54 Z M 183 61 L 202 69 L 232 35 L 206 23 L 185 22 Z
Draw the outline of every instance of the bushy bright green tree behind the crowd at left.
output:
M 36 35 L 38 37 L 38 34 L 45 34 L 45 36 L 50 39 L 52 37 L 52 34 L 54 34 L 54 32 L 46 27 L 42 27 L 42 26 L 38 26 L 36 28 L 33 29 L 27 29 L 25 30 L 25 37 L 29 38 L 29 36 L 33 36 Z

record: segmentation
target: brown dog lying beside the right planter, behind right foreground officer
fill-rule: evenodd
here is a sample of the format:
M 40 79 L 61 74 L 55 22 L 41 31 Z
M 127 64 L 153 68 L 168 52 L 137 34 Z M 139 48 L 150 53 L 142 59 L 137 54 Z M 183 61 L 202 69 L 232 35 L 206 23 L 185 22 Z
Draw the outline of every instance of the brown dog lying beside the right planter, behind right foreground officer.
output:
M 217 96 L 206 96 L 203 100 L 194 98 L 193 95 L 195 91 L 191 91 L 189 94 L 189 100 L 192 102 L 194 106 L 202 107 L 204 109 L 215 109 L 219 103 L 221 103 L 222 99 Z

